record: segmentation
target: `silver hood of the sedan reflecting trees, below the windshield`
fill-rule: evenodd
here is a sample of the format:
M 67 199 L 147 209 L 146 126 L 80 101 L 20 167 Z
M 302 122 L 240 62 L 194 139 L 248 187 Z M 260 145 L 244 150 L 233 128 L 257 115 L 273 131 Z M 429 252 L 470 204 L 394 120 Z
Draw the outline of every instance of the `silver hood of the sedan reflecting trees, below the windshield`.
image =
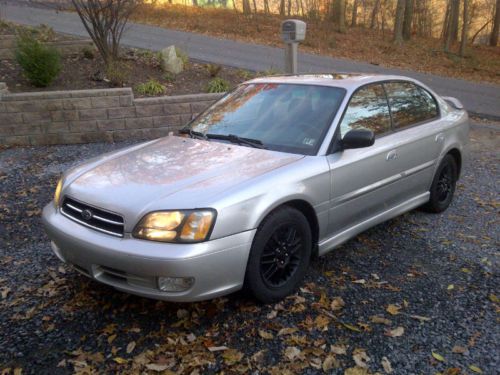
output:
M 225 190 L 301 158 L 169 136 L 79 167 L 64 194 L 121 214 L 201 208 Z

